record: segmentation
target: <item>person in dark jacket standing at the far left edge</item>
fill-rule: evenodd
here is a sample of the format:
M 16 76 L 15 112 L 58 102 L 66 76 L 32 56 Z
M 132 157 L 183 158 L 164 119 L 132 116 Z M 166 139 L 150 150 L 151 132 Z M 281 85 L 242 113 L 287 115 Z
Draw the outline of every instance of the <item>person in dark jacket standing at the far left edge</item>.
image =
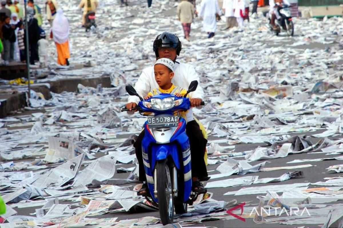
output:
M 10 18 L 5 16 L 5 24 L 2 26 L 2 36 L 3 36 L 3 60 L 4 64 L 8 65 L 9 61 L 13 61 L 14 53 L 14 42 L 15 42 L 15 26 L 10 24 Z

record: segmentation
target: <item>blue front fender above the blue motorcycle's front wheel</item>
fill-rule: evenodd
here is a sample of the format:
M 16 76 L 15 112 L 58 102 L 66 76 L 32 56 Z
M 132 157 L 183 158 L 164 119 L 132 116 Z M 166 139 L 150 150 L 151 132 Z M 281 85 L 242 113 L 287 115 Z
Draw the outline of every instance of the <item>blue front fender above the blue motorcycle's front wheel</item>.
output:
M 180 169 L 179 154 L 176 144 L 155 144 L 151 147 L 151 167 L 155 167 L 156 161 L 164 160 L 168 156 L 173 159 L 177 169 Z

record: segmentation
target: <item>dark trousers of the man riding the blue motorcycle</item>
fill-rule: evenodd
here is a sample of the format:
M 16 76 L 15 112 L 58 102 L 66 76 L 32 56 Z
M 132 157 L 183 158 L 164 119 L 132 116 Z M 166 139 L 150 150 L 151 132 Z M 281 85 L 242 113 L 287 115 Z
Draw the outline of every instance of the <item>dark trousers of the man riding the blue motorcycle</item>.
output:
M 142 139 L 145 131 L 142 131 L 136 142 L 133 144 L 135 148 L 136 157 L 139 163 L 139 180 L 146 181 L 143 156 L 142 156 Z M 206 180 L 208 174 L 206 170 L 206 164 L 204 160 L 205 149 L 207 139 L 202 135 L 199 124 L 193 120 L 189 121 L 186 125 L 186 134 L 189 138 L 190 150 L 191 150 L 191 167 L 192 177 L 198 177 L 200 180 Z

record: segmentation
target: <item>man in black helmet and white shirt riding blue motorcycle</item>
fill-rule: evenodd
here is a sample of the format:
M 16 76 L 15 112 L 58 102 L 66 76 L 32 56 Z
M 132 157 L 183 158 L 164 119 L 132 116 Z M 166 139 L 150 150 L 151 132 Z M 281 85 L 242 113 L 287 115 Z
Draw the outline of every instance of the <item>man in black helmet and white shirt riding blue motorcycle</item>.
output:
M 190 64 L 176 62 L 177 55 L 179 55 L 181 51 L 181 42 L 175 34 L 163 32 L 158 35 L 153 43 L 153 50 L 155 52 L 156 60 L 160 58 L 168 58 L 174 62 L 174 76 L 171 81 L 175 86 L 188 88 L 192 81 L 199 82 L 199 76 L 193 66 Z M 137 93 L 142 97 L 146 97 L 150 91 L 158 88 L 159 85 L 155 80 L 154 67 L 143 69 L 134 86 Z M 203 90 L 201 86 L 198 86 L 196 91 L 190 93 L 189 96 L 191 107 L 200 106 L 203 99 Z M 132 110 L 132 108 L 137 106 L 138 102 L 138 97 L 130 96 L 128 104 L 126 104 L 126 108 Z M 143 186 L 137 194 L 141 196 L 150 194 L 146 183 L 142 158 L 142 139 L 144 134 L 145 132 L 142 131 L 133 145 L 139 163 L 139 180 L 143 182 Z M 189 137 L 191 151 L 192 190 L 194 192 L 204 193 L 206 192 L 206 189 L 200 181 L 209 179 L 204 161 L 207 139 L 204 137 L 203 131 L 196 120 L 187 122 L 186 134 Z

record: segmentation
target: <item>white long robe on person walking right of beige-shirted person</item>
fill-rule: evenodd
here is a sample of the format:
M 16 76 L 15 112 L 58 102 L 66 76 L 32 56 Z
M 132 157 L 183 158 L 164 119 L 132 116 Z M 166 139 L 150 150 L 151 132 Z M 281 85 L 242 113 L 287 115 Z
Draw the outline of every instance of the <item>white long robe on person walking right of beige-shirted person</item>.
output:
M 200 4 L 199 16 L 203 18 L 203 29 L 205 32 L 215 32 L 217 21 L 215 14 L 220 14 L 217 0 L 202 0 Z

